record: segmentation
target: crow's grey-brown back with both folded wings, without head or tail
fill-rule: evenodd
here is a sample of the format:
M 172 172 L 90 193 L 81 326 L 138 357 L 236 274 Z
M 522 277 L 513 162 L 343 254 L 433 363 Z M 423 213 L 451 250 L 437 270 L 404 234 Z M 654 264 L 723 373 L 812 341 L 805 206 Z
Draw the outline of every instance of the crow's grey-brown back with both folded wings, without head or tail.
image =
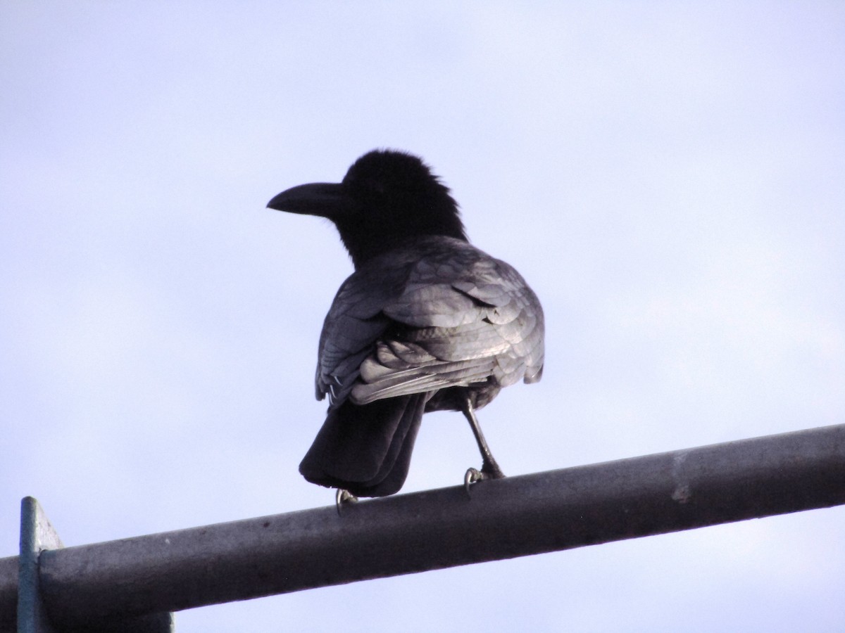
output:
M 372 403 L 542 373 L 542 308 L 513 268 L 437 237 L 346 280 L 320 339 L 317 392 Z M 375 273 L 378 271 L 378 273 Z

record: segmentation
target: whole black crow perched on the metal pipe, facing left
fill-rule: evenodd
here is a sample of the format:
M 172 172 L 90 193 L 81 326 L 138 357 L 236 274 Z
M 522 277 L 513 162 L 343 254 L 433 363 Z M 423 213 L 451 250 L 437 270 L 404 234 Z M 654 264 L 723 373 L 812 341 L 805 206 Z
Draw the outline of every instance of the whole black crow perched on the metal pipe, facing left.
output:
M 267 206 L 330 219 L 355 266 L 319 339 L 329 411 L 299 465 L 305 479 L 339 500 L 392 495 L 423 413 L 444 409 L 466 415 L 482 453 L 467 485 L 504 477 L 474 411 L 540 380 L 542 307 L 514 268 L 469 243 L 449 189 L 417 156 L 374 150 L 340 184 L 292 187 Z

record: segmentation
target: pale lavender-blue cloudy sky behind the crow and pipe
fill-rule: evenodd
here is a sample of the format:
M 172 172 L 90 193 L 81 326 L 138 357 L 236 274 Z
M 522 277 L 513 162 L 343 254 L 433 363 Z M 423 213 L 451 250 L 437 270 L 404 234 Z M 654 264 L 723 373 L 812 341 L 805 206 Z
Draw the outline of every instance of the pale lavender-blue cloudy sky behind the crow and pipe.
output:
M 547 315 L 506 473 L 845 421 L 845 5 L 0 5 L 0 556 L 329 505 L 351 264 L 272 212 L 420 154 Z M 477 462 L 427 416 L 403 492 Z M 232 630 L 842 630 L 845 508 L 194 609 Z

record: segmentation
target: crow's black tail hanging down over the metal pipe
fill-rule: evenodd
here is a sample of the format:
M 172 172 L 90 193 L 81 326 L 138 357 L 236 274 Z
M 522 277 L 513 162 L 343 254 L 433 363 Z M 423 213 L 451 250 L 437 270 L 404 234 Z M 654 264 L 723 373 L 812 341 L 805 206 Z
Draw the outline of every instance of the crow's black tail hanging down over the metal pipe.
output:
M 331 409 L 299 464 L 313 484 L 380 497 L 398 491 L 408 474 L 429 393 Z

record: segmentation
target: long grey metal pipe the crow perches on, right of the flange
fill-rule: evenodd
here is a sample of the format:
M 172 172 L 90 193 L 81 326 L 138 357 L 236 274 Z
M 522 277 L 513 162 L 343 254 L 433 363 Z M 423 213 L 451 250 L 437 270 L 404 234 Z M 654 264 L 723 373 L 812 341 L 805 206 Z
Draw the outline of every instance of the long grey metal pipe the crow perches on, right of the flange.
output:
M 144 614 L 845 503 L 845 425 L 46 551 L 55 621 Z M 0 567 L 3 561 L 0 560 Z M 2 616 L 0 616 L 2 617 Z

